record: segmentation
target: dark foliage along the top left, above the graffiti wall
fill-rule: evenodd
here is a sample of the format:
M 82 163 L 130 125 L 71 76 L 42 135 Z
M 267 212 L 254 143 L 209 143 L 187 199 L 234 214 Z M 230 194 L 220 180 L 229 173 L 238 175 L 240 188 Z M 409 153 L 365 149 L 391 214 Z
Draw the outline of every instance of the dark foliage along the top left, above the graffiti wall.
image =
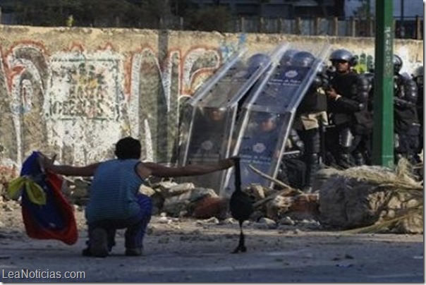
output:
M 231 20 L 224 6 L 200 9 L 190 0 L 4 0 L 1 8 L 19 25 L 35 26 L 157 29 L 160 20 L 185 16 L 187 28 L 224 32 Z

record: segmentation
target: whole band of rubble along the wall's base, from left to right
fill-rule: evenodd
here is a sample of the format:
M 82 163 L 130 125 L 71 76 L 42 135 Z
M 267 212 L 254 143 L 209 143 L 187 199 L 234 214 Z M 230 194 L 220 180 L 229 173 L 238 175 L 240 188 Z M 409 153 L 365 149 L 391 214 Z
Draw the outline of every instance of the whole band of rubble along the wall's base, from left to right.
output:
M 147 186 L 140 187 L 140 193 L 152 198 L 154 216 L 217 219 L 220 222 L 232 220 L 229 199 L 219 197 L 214 189 L 173 180 L 147 182 Z M 3 216 L 0 228 L 13 227 L 13 221 L 20 219 L 16 217 L 20 215 L 7 214 L 18 210 L 20 201 L 7 198 L 6 186 L 7 183 L 0 184 Z M 76 212 L 83 212 L 89 189 L 90 180 L 66 178 L 62 191 Z M 387 226 L 381 226 L 377 231 L 423 232 L 422 182 L 410 176 L 402 164 L 398 164 L 394 171 L 379 166 L 358 166 L 344 171 L 322 169 L 317 173 L 314 193 L 303 193 L 290 186 L 267 188 L 256 184 L 243 190 L 250 195 L 255 207 L 249 222 L 255 227 L 347 230 L 387 222 Z

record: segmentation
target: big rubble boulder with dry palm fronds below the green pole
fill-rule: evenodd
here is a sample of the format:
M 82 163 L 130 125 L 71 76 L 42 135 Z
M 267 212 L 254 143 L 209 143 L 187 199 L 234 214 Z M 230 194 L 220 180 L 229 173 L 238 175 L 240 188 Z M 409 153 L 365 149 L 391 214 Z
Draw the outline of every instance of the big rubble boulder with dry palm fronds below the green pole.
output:
M 412 173 L 404 159 L 394 171 L 379 166 L 334 169 L 319 189 L 319 221 L 332 229 L 422 234 L 423 186 Z

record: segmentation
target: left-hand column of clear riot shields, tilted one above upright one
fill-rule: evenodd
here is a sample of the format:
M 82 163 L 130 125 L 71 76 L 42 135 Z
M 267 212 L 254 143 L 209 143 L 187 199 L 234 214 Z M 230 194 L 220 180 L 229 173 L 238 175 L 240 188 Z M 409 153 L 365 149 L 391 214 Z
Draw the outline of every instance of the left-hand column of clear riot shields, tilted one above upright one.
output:
M 265 59 L 250 64 L 243 58 L 234 61 L 214 84 L 209 85 L 209 89 L 203 88 L 202 95 L 196 95 L 188 101 L 193 112 L 190 123 L 186 123 L 188 127 L 185 131 L 188 135 L 182 144 L 183 151 L 179 154 L 180 165 L 211 164 L 229 157 L 233 146 L 231 134 L 238 111 L 238 98 L 243 97 L 271 66 L 269 56 Z M 224 171 L 219 171 L 180 178 L 179 181 L 190 181 L 195 186 L 212 188 L 219 193 L 224 174 Z

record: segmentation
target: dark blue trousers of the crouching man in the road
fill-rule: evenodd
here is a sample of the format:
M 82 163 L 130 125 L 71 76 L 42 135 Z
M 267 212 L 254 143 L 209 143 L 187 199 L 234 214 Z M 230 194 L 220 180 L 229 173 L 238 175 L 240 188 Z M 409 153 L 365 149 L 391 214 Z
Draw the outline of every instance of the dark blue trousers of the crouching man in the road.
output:
M 90 244 L 93 230 L 102 228 L 107 231 L 108 248 L 111 251 L 111 248 L 116 244 L 116 230 L 126 229 L 124 234 L 126 248 L 142 248 L 143 237 L 152 216 L 152 200 L 147 195 L 138 194 L 138 204 L 140 212 L 128 219 L 105 219 L 89 223 L 89 241 L 87 241 L 87 244 Z

